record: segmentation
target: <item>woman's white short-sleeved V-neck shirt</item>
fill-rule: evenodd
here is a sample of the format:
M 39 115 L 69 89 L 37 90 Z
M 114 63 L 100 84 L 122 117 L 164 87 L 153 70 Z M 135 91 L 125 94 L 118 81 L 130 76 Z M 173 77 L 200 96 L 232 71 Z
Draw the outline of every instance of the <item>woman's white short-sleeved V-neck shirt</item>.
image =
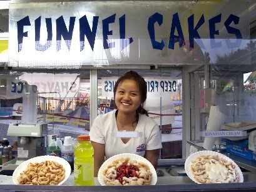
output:
M 140 114 L 135 131 L 137 137 L 130 138 L 127 143 L 123 143 L 120 137 L 116 136 L 118 128 L 116 126 L 116 109 L 100 114 L 93 121 L 90 130 L 90 139 L 96 143 L 105 144 L 106 159 L 121 153 L 134 153 L 145 156 L 146 150 L 160 149 L 161 133 L 158 124 L 145 114 Z

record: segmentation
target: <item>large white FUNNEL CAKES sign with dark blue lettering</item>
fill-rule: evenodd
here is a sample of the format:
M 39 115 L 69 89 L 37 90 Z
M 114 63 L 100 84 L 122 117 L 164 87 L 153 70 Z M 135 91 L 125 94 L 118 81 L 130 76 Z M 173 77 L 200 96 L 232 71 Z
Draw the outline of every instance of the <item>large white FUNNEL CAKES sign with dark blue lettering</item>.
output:
M 191 1 L 10 4 L 9 65 L 205 63 L 205 52 L 213 60 L 217 49 L 229 53 L 250 39 L 248 5 L 230 6 Z

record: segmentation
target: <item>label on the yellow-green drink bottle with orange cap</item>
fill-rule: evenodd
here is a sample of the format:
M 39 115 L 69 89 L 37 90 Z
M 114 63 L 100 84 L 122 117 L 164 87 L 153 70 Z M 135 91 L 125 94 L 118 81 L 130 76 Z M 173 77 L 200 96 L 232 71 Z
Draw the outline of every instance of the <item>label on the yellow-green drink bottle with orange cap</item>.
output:
M 79 181 L 94 179 L 93 163 L 74 163 L 74 178 L 79 179 Z

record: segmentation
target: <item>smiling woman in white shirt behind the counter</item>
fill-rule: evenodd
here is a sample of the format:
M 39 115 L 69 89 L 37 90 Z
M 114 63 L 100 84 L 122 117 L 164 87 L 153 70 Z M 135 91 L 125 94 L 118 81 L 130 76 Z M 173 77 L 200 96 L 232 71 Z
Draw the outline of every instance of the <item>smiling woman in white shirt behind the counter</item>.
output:
M 156 121 L 143 108 L 147 93 L 145 79 L 135 71 L 128 71 L 117 79 L 113 92 L 117 109 L 97 116 L 90 129 L 95 176 L 105 156 L 108 159 L 124 152 L 143 156 L 156 168 L 161 133 Z

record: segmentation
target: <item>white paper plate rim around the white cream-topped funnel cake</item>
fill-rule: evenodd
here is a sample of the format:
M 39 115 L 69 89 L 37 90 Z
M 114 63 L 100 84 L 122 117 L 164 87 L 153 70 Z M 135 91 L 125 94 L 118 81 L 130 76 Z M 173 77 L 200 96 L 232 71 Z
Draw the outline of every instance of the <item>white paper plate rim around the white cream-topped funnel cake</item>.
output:
M 190 156 L 188 156 L 188 158 L 185 161 L 185 171 L 190 179 L 195 181 L 195 183 L 202 184 L 195 179 L 195 176 L 192 173 L 190 167 L 192 165 L 193 159 L 196 159 L 198 156 L 201 156 L 201 155 L 209 155 L 209 154 L 218 155 L 219 158 L 223 158 L 223 159 L 226 159 L 227 161 L 231 161 L 235 165 L 235 169 L 238 171 L 238 175 L 239 175 L 238 183 L 243 183 L 243 173 L 241 169 L 238 167 L 237 163 L 235 163 L 232 159 L 228 158 L 224 154 L 218 153 L 216 151 L 197 151 L 195 153 L 190 154 Z

